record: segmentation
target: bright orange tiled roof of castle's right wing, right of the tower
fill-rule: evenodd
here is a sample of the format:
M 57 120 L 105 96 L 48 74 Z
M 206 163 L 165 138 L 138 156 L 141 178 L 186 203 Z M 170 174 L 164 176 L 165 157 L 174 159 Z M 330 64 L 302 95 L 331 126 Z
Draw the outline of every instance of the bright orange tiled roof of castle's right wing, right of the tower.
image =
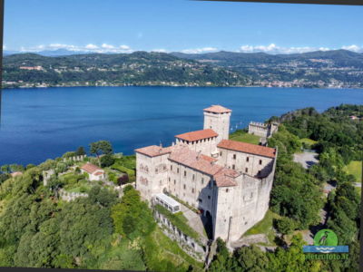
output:
M 240 151 L 269 158 L 275 158 L 276 155 L 276 150 L 273 148 L 241 141 L 222 140 L 218 144 L 218 147 L 231 151 Z

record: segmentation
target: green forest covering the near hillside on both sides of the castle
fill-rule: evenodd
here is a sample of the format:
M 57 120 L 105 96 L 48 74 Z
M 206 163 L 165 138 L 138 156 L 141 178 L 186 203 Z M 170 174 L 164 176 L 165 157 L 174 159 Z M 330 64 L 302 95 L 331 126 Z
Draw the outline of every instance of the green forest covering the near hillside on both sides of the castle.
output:
M 360 188 L 346 166 L 362 160 L 363 122 L 350 115 L 363 117 L 363 106 L 340 105 L 322 113 L 307 108 L 271 117 L 269 121 L 280 121 L 279 131 L 269 139 L 270 146 L 278 147 L 270 198 L 270 211 L 278 215 L 273 219 L 277 247 L 266 251 L 252 245 L 230 253 L 218 239 L 209 271 L 358 271 Z M 318 151 L 319 163 L 304 169 L 294 162 L 293 154 L 302 148 Z M 202 263 L 162 233 L 136 189 L 125 186 L 117 195 L 102 183 L 91 186 L 78 162 L 64 162 L 84 153 L 81 147 L 37 166 L 1 168 L 0 266 L 203 270 Z M 94 157 L 86 160 L 108 173 L 121 170 L 132 177 L 134 156 L 114 154 L 109 142 L 92 143 L 88 153 Z M 52 169 L 55 176 L 44 185 L 43 171 Z M 23 174 L 12 177 L 15 171 Z M 324 196 L 327 183 L 334 189 Z M 60 188 L 87 192 L 88 197 L 64 201 L 57 193 Z M 322 226 L 321 209 L 328 209 Z M 348 259 L 306 259 L 302 233 L 317 226 L 337 233 L 338 244 L 349 246 Z

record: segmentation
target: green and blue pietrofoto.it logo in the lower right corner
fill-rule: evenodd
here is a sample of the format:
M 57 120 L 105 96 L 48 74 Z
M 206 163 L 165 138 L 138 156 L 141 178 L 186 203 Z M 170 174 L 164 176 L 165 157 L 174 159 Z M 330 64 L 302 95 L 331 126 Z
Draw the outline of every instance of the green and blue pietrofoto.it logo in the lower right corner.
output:
M 338 246 L 338 237 L 335 232 L 329 228 L 319 230 L 314 236 L 313 246 L 304 246 L 304 253 L 346 253 L 348 246 Z

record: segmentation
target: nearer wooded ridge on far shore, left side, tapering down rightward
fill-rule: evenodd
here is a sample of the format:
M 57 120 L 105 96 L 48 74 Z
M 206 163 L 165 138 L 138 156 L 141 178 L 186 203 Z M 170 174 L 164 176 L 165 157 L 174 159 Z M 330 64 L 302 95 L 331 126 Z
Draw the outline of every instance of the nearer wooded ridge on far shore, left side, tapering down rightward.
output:
M 57 57 L 36 53 L 3 58 L 3 86 L 229 86 L 249 79 L 228 68 L 169 53 L 87 53 Z

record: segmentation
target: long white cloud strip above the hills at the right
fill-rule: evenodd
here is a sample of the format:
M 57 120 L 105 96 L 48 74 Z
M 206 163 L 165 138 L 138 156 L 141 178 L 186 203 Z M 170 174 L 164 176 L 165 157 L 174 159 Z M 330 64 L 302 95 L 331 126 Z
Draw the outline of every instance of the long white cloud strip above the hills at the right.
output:
M 240 46 L 239 52 L 244 53 L 307 53 L 312 51 L 329 51 L 336 49 L 346 49 L 354 52 L 363 52 L 363 47 L 352 44 L 347 46 L 342 46 L 341 48 L 329 48 L 329 47 L 313 47 L 313 46 L 298 46 L 298 47 L 283 47 L 276 44 L 269 45 L 242 45 Z

